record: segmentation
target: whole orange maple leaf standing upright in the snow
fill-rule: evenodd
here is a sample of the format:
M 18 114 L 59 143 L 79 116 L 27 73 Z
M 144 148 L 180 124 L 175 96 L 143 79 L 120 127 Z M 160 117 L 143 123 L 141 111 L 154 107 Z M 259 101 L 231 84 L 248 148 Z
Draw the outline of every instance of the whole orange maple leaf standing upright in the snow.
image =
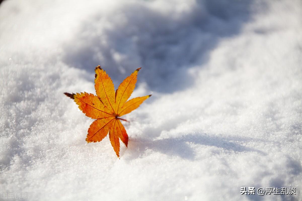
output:
M 74 99 L 79 109 L 86 116 L 96 119 L 90 125 L 86 141 L 99 142 L 109 133 L 109 139 L 113 149 L 120 157 L 120 140 L 128 146 L 128 135 L 120 118 L 138 108 L 148 96 L 142 96 L 128 100 L 137 82 L 137 73 L 141 68 L 137 68 L 128 76 L 116 91 L 108 74 L 100 67 L 95 67 L 95 91 L 96 96 L 91 93 L 64 93 Z M 127 101 L 128 100 L 128 101 Z

